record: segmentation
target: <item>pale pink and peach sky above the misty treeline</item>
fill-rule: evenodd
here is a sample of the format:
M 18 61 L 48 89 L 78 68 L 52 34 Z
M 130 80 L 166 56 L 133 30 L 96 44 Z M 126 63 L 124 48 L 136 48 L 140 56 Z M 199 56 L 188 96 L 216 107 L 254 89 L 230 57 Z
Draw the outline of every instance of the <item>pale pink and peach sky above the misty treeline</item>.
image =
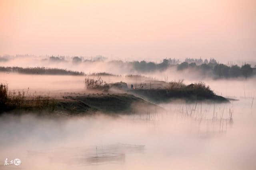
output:
M 0 0 L 0 55 L 255 60 L 255 0 Z

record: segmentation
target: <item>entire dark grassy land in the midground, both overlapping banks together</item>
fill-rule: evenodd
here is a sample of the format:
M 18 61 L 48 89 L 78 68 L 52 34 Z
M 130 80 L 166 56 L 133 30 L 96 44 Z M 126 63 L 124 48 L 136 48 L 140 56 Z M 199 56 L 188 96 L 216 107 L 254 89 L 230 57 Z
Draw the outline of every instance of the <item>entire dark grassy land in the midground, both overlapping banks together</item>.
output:
M 90 115 L 93 113 L 135 114 L 162 109 L 159 103 L 184 100 L 185 102 L 229 102 L 217 96 L 209 86 L 199 82 L 185 85 L 179 82 L 145 82 L 129 89 L 125 82 L 107 84 L 102 79 L 86 80 L 84 94 L 27 96 L 25 92 L 8 93 L 8 86 L 0 84 L 0 113 L 35 112 L 57 115 Z M 161 86 L 159 86 L 161 84 Z M 143 85 L 143 86 L 142 86 Z M 156 88 L 156 85 L 158 86 Z M 94 91 L 94 93 L 90 93 Z

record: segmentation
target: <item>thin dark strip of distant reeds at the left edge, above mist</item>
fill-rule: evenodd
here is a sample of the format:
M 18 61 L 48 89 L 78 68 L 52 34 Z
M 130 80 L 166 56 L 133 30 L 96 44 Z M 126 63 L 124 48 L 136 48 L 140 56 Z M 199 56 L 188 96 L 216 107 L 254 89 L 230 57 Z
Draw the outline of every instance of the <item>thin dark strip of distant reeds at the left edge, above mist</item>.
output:
M 3 67 L 0 66 L 1 72 L 17 72 L 21 74 L 52 74 L 52 75 L 84 75 L 84 72 L 59 69 L 59 68 L 45 68 L 45 67 Z

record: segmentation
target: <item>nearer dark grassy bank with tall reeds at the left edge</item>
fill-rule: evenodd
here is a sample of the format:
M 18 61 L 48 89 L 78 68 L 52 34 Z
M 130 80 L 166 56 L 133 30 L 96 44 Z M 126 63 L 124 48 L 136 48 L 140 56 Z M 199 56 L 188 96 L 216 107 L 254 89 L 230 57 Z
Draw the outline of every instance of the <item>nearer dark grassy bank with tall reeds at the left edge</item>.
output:
M 162 110 L 142 98 L 127 93 L 72 93 L 65 96 L 28 96 L 25 92 L 9 92 L 0 84 L 0 113 L 43 115 L 92 115 L 94 113 L 135 114 Z

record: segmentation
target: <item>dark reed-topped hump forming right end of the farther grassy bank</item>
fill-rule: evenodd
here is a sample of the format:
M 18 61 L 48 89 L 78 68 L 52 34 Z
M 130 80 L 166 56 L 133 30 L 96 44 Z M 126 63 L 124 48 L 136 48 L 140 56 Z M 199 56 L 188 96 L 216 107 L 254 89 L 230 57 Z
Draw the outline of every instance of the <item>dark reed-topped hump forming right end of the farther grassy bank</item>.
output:
M 182 82 L 168 82 L 163 88 L 135 88 L 129 93 L 154 103 L 166 103 L 174 100 L 186 102 L 229 102 L 226 98 L 216 95 L 209 86 L 199 82 L 185 85 Z

